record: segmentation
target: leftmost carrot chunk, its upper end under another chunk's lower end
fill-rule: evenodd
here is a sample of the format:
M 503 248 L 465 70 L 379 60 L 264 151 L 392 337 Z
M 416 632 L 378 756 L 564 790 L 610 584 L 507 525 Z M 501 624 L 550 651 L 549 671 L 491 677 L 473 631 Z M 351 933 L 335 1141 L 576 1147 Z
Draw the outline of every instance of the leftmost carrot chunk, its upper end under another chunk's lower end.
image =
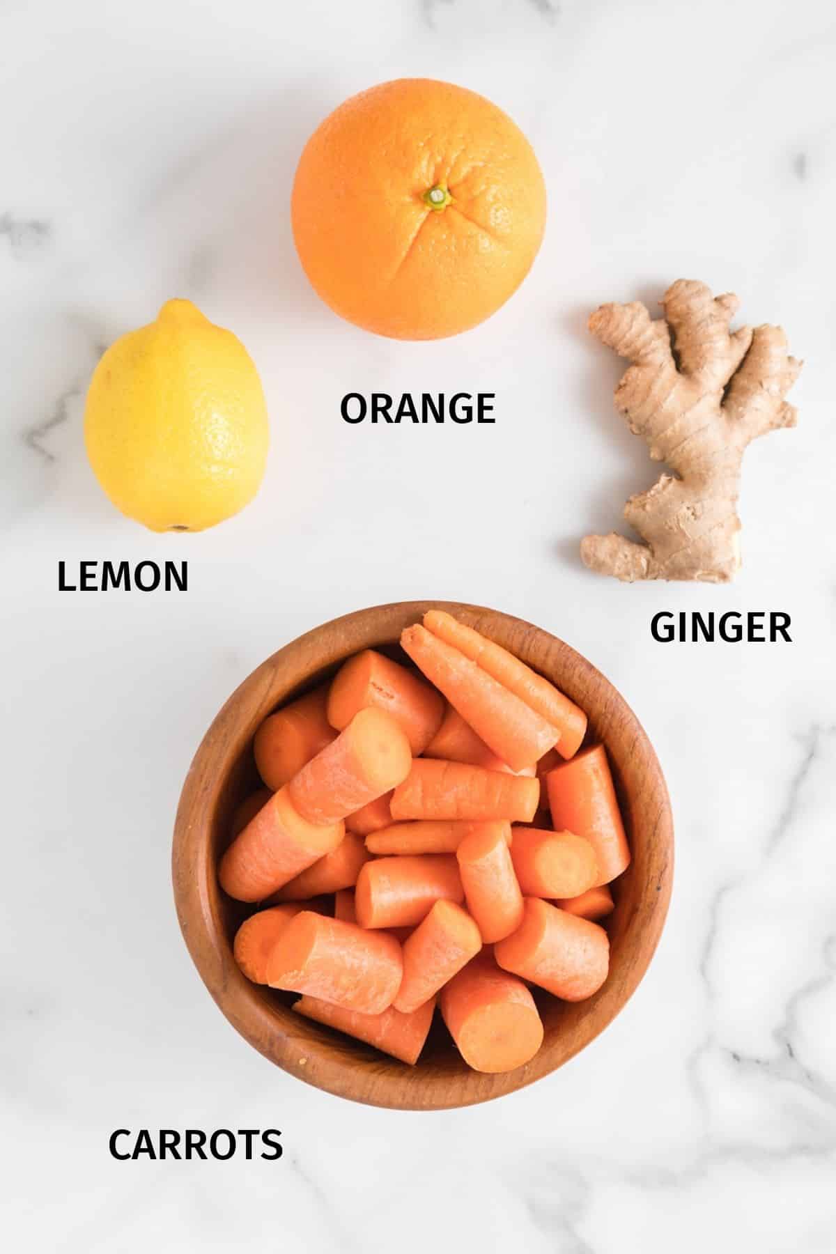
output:
M 291 804 L 287 788 L 280 789 L 221 859 L 221 888 L 239 902 L 259 902 L 336 849 L 343 835 L 342 823 L 308 823 Z

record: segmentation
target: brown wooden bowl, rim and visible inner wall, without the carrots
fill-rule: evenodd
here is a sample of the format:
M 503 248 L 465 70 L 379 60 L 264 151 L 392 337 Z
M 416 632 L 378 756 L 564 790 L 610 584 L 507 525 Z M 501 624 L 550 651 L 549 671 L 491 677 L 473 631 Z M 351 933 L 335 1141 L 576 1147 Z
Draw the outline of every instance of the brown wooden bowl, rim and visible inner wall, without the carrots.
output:
M 545 1026 L 543 1047 L 526 1066 L 505 1075 L 471 1071 L 441 1025 L 434 1026 L 419 1063 L 410 1067 L 295 1014 L 290 1008 L 293 994 L 251 984 L 232 957 L 236 927 L 249 910 L 222 893 L 216 874 L 229 841 L 232 811 L 258 782 L 252 740 L 262 720 L 362 648 L 397 656 L 401 630 L 432 607 L 484 631 L 587 711 L 588 739 L 607 746 L 633 850 L 629 869 L 614 885 L 615 910 L 607 920 L 609 978 L 594 997 L 575 1004 L 536 994 Z M 180 928 L 203 982 L 229 1022 L 261 1053 L 301 1080 L 341 1097 L 401 1110 L 489 1101 L 530 1085 L 583 1050 L 618 1014 L 647 969 L 668 909 L 672 870 L 673 821 L 662 770 L 615 688 L 585 658 L 539 627 L 494 609 L 437 601 L 361 609 L 300 636 L 262 662 L 203 737 L 174 828 Z

